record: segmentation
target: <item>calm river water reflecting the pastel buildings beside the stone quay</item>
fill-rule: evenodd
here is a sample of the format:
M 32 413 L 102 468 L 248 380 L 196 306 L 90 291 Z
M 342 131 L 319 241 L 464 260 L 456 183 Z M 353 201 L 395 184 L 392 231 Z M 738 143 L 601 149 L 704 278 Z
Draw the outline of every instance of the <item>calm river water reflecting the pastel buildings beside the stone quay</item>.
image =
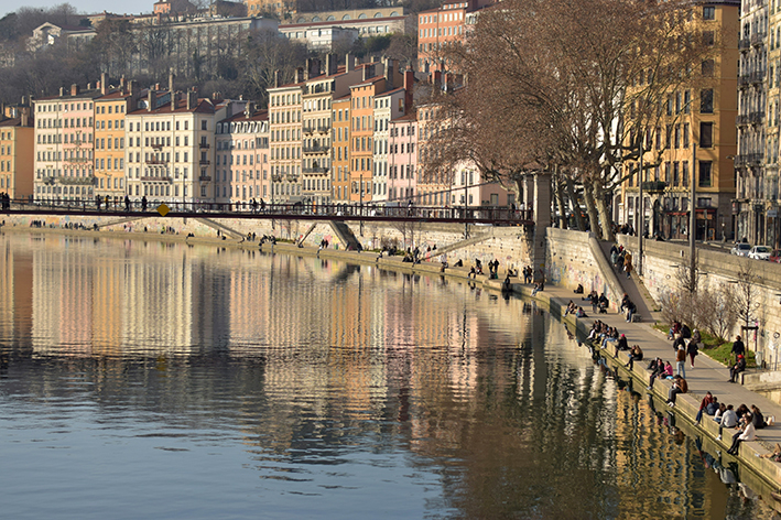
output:
M 2 518 L 769 514 L 563 325 L 466 283 L 7 234 L 0 291 Z

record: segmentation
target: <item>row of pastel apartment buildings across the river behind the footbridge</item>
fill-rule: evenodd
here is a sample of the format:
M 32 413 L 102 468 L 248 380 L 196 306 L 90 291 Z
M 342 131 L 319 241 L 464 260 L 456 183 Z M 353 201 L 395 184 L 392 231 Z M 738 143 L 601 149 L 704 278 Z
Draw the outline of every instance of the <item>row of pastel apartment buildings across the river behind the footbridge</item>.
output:
M 321 68 L 321 65 L 323 67 Z M 441 75 L 433 76 L 440 83 Z M 507 205 L 474 165 L 426 182 L 420 156 L 433 105 L 413 106 L 415 77 L 392 59 L 308 59 L 253 102 L 139 88 L 104 75 L 9 108 L 0 121 L 0 192 L 35 201 L 184 204 Z

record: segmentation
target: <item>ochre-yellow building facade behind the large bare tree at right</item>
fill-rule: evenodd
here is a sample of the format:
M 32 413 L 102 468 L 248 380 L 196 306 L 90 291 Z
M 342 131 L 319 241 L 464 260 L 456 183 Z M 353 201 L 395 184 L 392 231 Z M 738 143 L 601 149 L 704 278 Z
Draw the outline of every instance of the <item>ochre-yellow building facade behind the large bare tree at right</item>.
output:
M 691 184 L 694 175 L 697 240 L 720 240 L 734 234 L 735 164 L 738 118 L 738 33 L 740 3 L 722 1 L 693 7 L 703 40 L 714 50 L 702 64 L 699 82 L 670 91 L 662 117 L 643 137 L 643 171 L 623 164 L 621 193 L 614 201 L 614 220 L 640 221 L 643 183 L 643 229 L 649 236 L 687 238 Z M 642 84 L 643 79 L 640 79 Z M 696 151 L 695 151 L 696 145 Z

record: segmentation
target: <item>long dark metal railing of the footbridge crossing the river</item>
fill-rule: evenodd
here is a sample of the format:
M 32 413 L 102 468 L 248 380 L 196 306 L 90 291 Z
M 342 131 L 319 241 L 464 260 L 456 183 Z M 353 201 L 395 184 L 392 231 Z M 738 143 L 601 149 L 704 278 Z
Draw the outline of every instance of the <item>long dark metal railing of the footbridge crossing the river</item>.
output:
M 528 223 L 532 220 L 529 209 L 514 209 L 512 207 L 478 206 L 478 207 L 447 207 L 447 206 L 391 206 L 383 204 L 314 204 L 314 203 L 208 203 L 208 202 L 173 202 L 173 201 L 128 201 L 110 199 L 98 203 L 95 199 L 45 199 L 28 201 L 11 199 L 3 202 L 4 213 L 35 213 L 35 214 L 74 214 L 74 215 L 123 215 L 129 214 L 158 214 L 158 208 L 165 204 L 172 216 L 193 214 L 235 215 L 235 216 L 270 216 L 274 218 L 311 219 L 317 217 L 345 218 L 345 219 L 399 219 L 399 220 L 445 220 L 445 221 L 475 221 L 475 223 Z

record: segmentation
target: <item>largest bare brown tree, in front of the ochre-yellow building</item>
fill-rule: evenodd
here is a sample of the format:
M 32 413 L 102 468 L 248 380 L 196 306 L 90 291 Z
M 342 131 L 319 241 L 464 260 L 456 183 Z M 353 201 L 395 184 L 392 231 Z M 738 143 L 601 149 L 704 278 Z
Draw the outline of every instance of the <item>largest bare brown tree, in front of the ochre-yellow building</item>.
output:
M 442 51 L 443 63 L 487 98 L 462 106 L 484 113 L 464 117 L 469 124 L 460 130 L 479 139 L 486 126 L 471 122 L 491 121 L 501 133 L 497 145 L 531 148 L 517 153 L 540 167 L 564 166 L 583 186 L 592 229 L 611 239 L 606 201 L 622 181 L 622 163 L 639 156 L 662 100 L 696 80 L 712 51 L 690 22 L 692 9 L 677 0 L 502 2 L 480 15 L 464 44 Z M 519 140 L 530 122 L 531 139 Z

